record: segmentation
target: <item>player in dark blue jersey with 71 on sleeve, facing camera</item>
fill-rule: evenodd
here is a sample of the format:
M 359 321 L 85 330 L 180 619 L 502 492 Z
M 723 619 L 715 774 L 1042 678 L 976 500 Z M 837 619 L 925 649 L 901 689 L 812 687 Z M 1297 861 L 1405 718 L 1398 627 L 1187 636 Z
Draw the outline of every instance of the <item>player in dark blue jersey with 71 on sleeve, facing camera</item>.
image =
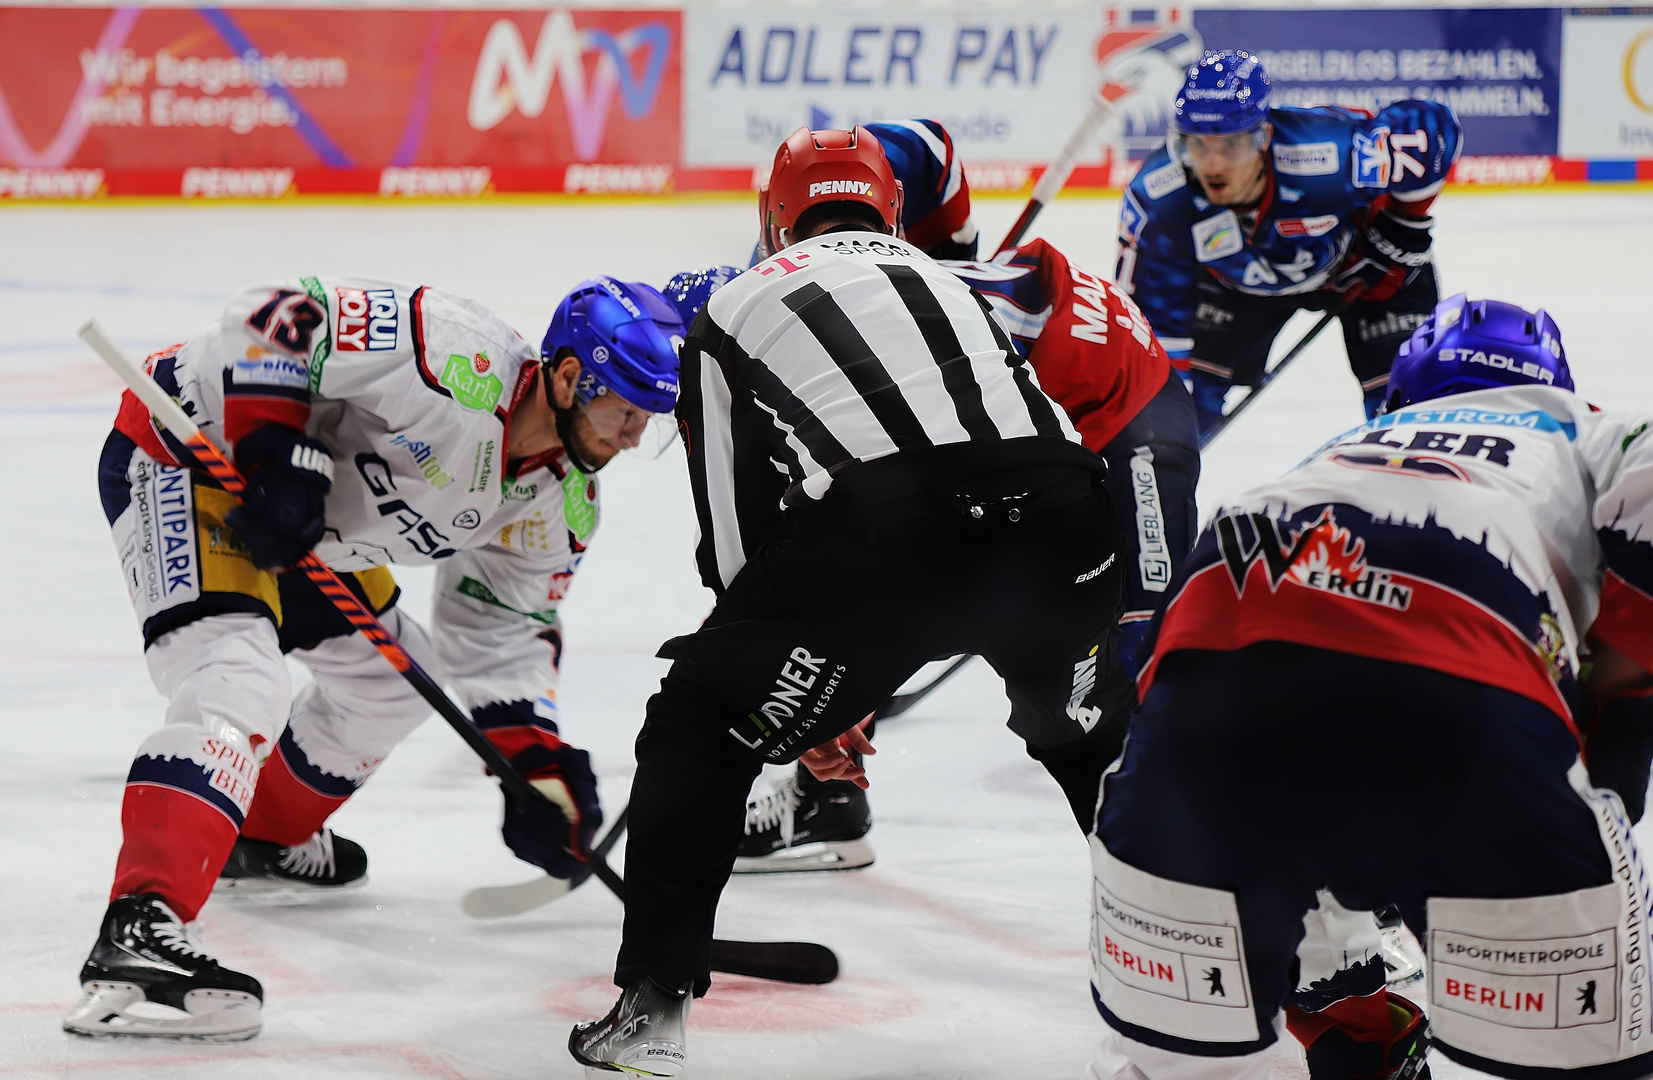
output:
M 1189 68 L 1170 141 L 1126 189 L 1114 276 L 1192 370 L 1202 432 L 1233 384 L 1256 385 L 1299 309 L 1341 311 L 1377 412 L 1395 349 L 1440 299 L 1428 207 L 1460 149 L 1440 103 L 1270 108 L 1255 56 Z

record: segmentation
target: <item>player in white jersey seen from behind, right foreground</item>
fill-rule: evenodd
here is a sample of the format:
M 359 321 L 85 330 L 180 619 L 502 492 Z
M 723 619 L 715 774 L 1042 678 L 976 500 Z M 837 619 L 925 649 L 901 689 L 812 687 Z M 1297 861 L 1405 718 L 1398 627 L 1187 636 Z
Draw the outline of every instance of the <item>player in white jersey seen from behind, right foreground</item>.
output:
M 1294 991 L 1311 911 L 1387 903 L 1453 1060 L 1653 1073 L 1653 417 L 1575 397 L 1546 313 L 1463 296 L 1389 385 L 1215 516 L 1160 615 L 1091 842 L 1091 1080 L 1261 1080 L 1283 1006 L 1316 1080 L 1427 1075 L 1375 964 Z

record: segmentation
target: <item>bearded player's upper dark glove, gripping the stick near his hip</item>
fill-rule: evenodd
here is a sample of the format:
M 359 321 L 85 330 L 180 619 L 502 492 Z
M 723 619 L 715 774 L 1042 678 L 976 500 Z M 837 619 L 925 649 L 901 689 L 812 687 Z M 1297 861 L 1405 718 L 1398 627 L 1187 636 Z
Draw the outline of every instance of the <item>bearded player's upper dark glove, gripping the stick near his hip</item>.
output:
M 332 491 L 327 447 L 284 423 L 266 423 L 235 447 L 246 478 L 241 504 L 225 521 L 246 544 L 253 566 L 293 566 L 321 541 Z

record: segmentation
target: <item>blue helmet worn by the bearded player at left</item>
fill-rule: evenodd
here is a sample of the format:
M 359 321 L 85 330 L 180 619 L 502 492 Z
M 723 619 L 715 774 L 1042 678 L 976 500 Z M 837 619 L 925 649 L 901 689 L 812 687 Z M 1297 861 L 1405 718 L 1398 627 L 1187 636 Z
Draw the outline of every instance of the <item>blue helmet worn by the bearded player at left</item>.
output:
M 580 404 L 618 394 L 646 412 L 671 412 L 681 344 L 683 319 L 653 286 L 592 278 L 557 304 L 539 356 L 554 362 L 559 349 L 574 349 L 584 369 L 574 387 Z

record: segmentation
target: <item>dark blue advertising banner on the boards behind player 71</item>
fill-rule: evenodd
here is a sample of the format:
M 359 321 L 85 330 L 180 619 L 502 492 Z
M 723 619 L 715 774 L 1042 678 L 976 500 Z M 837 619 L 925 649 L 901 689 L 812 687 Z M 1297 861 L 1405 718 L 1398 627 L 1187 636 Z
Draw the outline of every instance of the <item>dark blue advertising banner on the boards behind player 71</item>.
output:
M 1195 8 L 1193 26 L 1205 48 L 1258 55 L 1274 104 L 1433 98 L 1466 155 L 1557 152 L 1562 8 Z

